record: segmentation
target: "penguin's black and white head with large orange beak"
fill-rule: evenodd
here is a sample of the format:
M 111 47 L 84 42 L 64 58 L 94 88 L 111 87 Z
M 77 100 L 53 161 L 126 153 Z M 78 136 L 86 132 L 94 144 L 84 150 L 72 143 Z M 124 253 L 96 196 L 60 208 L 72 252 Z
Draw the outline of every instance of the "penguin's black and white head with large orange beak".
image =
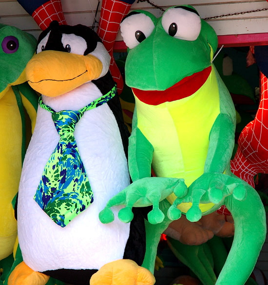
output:
M 28 62 L 26 76 L 33 89 L 57 97 L 89 81 L 106 82 L 110 60 L 91 28 L 52 21 L 38 38 L 37 54 Z

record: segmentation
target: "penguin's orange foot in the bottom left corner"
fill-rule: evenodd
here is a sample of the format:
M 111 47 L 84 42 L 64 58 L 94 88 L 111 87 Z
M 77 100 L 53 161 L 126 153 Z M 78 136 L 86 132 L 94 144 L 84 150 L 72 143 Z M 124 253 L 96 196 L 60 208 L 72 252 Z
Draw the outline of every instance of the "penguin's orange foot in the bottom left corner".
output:
M 7 285 L 45 285 L 49 276 L 34 271 L 23 261 L 11 272 Z

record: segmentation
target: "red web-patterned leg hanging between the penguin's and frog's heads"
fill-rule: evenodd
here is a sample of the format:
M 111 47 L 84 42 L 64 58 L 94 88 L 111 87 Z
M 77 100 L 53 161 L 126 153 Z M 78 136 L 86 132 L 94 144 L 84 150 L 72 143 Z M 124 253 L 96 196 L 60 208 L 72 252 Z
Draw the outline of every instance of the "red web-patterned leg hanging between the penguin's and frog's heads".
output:
M 111 55 L 110 71 L 117 84 L 117 92 L 122 92 L 124 83 L 113 56 L 115 38 L 120 28 L 120 22 L 128 14 L 131 4 L 120 0 L 103 0 L 100 12 L 98 36 Z

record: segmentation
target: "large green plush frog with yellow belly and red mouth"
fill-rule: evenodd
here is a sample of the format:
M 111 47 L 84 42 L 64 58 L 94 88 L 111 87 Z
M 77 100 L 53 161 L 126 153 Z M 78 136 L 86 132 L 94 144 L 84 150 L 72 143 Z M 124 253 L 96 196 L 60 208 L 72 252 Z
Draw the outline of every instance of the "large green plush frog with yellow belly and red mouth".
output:
M 265 212 L 253 188 L 230 172 L 235 109 L 211 63 L 217 36 L 190 5 L 174 6 L 156 18 L 131 12 L 121 23 L 128 47 L 126 84 L 135 97 L 129 140 L 129 170 L 134 181 L 100 213 L 113 220 L 110 207 L 125 204 L 118 217 L 132 219 L 132 207 L 149 206 L 146 257 L 153 271 L 160 233 L 180 216 L 190 222 L 222 205 L 235 223 L 232 248 L 217 285 L 243 285 L 266 236 Z M 178 178 L 187 187 L 158 191 L 156 178 Z M 186 217 L 186 218 L 185 218 Z M 190 223 L 189 222 L 189 223 Z

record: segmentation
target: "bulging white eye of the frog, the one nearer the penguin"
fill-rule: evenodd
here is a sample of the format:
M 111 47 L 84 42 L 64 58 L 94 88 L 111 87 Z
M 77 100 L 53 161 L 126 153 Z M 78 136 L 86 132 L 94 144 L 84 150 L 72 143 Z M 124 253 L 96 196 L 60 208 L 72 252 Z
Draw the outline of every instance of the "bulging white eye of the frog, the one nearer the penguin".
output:
M 152 34 L 154 24 L 149 16 L 143 13 L 132 12 L 123 19 L 120 29 L 126 46 L 133 49 Z

